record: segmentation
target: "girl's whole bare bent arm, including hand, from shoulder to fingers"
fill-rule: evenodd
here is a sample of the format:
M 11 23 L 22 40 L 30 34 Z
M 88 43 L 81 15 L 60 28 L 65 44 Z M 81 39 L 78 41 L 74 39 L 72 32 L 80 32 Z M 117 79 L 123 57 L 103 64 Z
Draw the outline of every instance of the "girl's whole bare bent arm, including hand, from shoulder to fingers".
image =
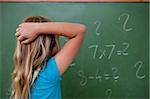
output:
M 54 56 L 60 75 L 68 68 L 77 55 L 86 32 L 86 26 L 79 23 L 46 22 L 46 23 L 22 23 L 16 29 L 16 37 L 21 44 L 33 41 L 38 35 L 55 34 L 65 36 L 69 40 L 63 48 Z

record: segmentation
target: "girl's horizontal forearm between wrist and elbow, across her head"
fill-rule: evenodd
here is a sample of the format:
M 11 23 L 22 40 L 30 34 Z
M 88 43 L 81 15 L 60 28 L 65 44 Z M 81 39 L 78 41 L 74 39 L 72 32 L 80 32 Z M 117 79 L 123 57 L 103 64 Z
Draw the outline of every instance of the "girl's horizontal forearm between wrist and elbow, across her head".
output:
M 46 22 L 39 23 L 39 34 L 56 34 L 60 36 L 66 36 L 73 38 L 79 34 L 85 32 L 85 25 L 79 23 L 67 23 L 67 22 Z

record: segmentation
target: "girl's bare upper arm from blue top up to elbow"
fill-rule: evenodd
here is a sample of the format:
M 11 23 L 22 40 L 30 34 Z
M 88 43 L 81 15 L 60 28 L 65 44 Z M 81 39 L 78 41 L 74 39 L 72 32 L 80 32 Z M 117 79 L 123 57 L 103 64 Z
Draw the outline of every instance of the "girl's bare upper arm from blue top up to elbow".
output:
M 84 28 L 81 33 L 78 33 L 76 37 L 69 39 L 63 48 L 55 55 L 60 75 L 65 72 L 78 53 L 84 39 L 85 30 L 86 28 Z

